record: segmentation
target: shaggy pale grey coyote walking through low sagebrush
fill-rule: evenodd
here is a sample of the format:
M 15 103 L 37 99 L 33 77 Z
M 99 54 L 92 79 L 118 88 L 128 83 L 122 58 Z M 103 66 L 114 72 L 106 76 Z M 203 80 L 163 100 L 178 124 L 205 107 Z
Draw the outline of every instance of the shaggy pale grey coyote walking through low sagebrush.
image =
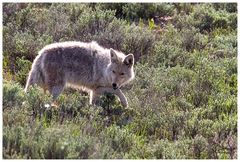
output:
M 134 78 L 134 56 L 106 49 L 96 42 L 62 42 L 39 51 L 29 73 L 25 92 L 37 84 L 48 90 L 55 101 L 64 87 L 81 88 L 90 93 L 90 104 L 104 92 L 119 97 L 123 107 L 128 102 L 121 86 Z

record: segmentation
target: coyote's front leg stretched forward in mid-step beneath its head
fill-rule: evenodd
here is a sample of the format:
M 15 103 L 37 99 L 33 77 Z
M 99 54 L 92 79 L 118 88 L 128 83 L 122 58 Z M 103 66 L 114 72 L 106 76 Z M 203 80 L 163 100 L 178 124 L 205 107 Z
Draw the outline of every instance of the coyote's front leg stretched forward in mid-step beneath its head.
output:
M 99 87 L 95 90 L 95 94 L 98 94 L 98 95 L 104 94 L 105 92 L 113 93 L 117 95 L 120 99 L 122 106 L 128 107 L 127 99 L 120 89 L 114 90 L 113 88 L 109 88 L 109 87 Z

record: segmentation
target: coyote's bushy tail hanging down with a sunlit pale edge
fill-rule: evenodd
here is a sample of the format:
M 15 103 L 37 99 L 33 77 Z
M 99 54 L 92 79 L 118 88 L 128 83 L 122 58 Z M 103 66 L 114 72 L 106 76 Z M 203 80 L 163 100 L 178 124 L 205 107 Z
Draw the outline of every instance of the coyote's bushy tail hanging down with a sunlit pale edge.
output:
M 37 58 L 33 62 L 32 69 L 29 72 L 26 87 L 24 89 L 25 92 L 27 92 L 28 88 L 31 85 L 37 84 L 41 86 L 44 83 L 43 71 L 41 67 L 41 58 L 41 56 L 37 56 Z

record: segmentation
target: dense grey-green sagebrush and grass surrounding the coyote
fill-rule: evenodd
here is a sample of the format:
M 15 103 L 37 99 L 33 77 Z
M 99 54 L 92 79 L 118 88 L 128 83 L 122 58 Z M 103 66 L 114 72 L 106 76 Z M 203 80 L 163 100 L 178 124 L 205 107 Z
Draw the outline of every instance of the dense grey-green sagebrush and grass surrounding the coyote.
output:
M 24 93 L 38 51 L 73 40 L 135 55 L 129 108 Z M 237 158 L 236 3 L 4 3 L 3 79 L 3 158 Z

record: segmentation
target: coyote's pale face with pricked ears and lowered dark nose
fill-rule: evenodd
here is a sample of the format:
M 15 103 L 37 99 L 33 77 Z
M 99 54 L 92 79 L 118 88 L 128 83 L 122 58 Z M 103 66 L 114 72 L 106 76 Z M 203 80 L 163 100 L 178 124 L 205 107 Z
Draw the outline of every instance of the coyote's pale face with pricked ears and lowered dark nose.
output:
M 134 78 L 134 56 L 127 56 L 110 49 L 111 62 L 108 65 L 107 75 L 113 89 L 118 89 Z

